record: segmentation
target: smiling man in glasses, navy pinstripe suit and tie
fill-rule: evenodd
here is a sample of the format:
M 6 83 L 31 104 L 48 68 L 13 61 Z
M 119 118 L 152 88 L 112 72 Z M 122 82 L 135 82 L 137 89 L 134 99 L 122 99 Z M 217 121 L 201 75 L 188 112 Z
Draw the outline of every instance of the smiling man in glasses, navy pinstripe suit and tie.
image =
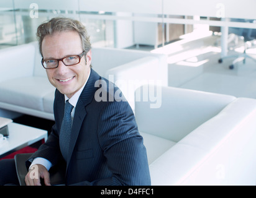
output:
M 38 27 L 37 37 L 42 65 L 57 88 L 55 125 L 47 142 L 26 161 L 25 183 L 41 185 L 43 178 L 50 185 L 49 170 L 64 167 L 66 185 L 150 185 L 134 114 L 127 101 L 114 98 L 117 87 L 91 68 L 85 27 L 77 20 L 53 18 Z M 100 100 L 103 95 L 107 101 Z M 66 103 L 72 105 L 68 141 L 61 132 Z M 41 179 L 32 177 L 32 171 Z

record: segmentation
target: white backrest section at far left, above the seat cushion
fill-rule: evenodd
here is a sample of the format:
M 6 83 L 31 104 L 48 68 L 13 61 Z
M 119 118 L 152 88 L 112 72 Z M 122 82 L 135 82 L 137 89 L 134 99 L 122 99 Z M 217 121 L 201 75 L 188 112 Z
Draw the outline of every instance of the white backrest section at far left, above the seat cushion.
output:
M 31 44 L 1 49 L 0 82 L 18 77 L 32 76 L 34 59 L 35 47 Z

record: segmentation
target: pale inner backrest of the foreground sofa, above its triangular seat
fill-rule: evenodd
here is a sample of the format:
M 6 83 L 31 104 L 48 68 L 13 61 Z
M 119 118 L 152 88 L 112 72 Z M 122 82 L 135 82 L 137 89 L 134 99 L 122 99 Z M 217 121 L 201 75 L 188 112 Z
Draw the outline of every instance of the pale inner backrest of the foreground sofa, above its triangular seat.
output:
M 147 95 L 142 88 L 135 92 L 135 118 L 139 131 L 174 142 L 216 116 L 235 100 L 229 95 L 155 85 L 143 88 L 148 90 Z M 151 99 L 145 98 L 149 95 Z M 154 103 L 158 105 L 153 106 Z

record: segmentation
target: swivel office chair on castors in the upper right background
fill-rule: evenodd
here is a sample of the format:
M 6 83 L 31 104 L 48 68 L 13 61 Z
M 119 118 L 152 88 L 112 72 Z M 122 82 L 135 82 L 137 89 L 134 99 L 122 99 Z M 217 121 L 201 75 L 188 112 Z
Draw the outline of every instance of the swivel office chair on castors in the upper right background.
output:
M 244 19 L 233 19 L 231 21 L 235 21 L 235 22 L 254 22 L 254 20 L 244 20 Z M 254 61 L 256 61 L 255 58 L 253 58 L 252 56 L 249 56 L 246 53 L 246 50 L 248 49 L 249 43 L 250 41 L 253 41 L 256 38 L 256 29 L 250 29 L 250 28 L 229 28 L 229 34 L 235 34 L 237 36 L 241 36 L 244 40 L 244 53 L 242 54 L 237 54 L 237 55 L 232 55 L 232 56 L 225 56 L 223 58 L 219 59 L 219 63 L 223 62 L 223 59 L 227 59 L 227 58 L 235 58 L 234 61 L 232 62 L 232 64 L 229 66 L 229 69 L 234 69 L 235 63 L 239 62 L 239 61 L 243 61 L 243 63 L 245 64 L 245 59 L 246 58 L 250 58 Z

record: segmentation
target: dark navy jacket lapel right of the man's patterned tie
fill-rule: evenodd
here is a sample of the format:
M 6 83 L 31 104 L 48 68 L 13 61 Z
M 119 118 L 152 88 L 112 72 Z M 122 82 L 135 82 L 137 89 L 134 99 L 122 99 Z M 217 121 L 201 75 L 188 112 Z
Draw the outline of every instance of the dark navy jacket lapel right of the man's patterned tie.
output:
M 94 72 L 93 69 L 91 69 L 91 74 L 89 76 L 89 79 L 76 104 L 75 116 L 73 119 L 71 139 L 70 139 L 70 149 L 69 149 L 69 155 L 67 158 L 67 166 L 66 166 L 67 168 L 70 163 L 71 155 L 73 153 L 76 140 L 80 133 L 81 126 L 86 116 L 86 106 L 89 105 L 89 103 L 91 103 L 91 101 L 94 98 L 94 93 L 98 88 L 98 87 L 94 87 L 94 84 L 99 79 L 100 79 L 100 76 L 96 72 Z

